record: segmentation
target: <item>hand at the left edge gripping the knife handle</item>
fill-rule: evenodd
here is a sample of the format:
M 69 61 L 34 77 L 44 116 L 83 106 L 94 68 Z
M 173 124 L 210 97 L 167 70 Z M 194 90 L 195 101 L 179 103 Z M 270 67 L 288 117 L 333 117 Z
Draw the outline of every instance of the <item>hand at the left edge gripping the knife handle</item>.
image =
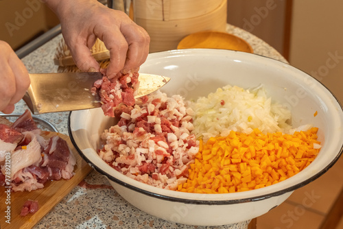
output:
M 29 74 L 8 43 L 0 40 L 0 111 L 10 114 L 29 87 Z

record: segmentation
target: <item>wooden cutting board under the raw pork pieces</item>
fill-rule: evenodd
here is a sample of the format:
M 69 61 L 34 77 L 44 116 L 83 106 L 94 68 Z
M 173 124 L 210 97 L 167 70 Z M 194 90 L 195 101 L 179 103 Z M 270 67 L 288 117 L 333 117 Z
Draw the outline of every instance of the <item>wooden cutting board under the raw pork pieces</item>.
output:
M 38 189 L 31 192 L 12 192 L 10 195 L 10 204 L 5 203 L 7 195 L 5 195 L 4 187 L 1 186 L 0 228 L 2 229 L 32 228 L 40 221 L 40 219 L 49 213 L 49 211 L 54 208 L 56 204 L 58 204 L 68 193 L 70 193 L 71 190 L 78 185 L 92 170 L 92 168 L 80 157 L 75 147 L 73 147 L 69 136 L 56 132 L 44 132 L 43 135 L 45 135 L 47 138 L 58 135 L 60 138 L 63 138 L 65 141 L 67 141 L 76 159 L 76 165 L 74 169 L 75 175 L 70 180 L 49 181 L 44 184 L 44 189 Z M 27 200 L 37 200 L 39 209 L 36 213 L 34 213 L 34 215 L 28 214 L 25 217 L 22 217 L 20 216 L 21 208 Z M 5 218 L 4 213 L 7 206 L 10 206 L 11 209 L 10 224 L 5 222 L 7 219 Z

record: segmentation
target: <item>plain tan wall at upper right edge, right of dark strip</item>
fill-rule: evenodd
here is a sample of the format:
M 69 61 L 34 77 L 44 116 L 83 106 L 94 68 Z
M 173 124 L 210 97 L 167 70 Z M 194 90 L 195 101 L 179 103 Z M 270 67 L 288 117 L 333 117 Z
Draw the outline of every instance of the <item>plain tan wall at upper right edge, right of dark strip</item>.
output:
M 343 103 L 343 1 L 293 1 L 289 62 Z

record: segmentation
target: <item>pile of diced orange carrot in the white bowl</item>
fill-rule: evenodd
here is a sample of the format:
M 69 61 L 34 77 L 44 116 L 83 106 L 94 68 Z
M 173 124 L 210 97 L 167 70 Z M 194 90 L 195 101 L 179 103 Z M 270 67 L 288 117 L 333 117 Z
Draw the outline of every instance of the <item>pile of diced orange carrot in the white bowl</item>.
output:
M 226 137 L 211 137 L 189 166 L 187 181 L 178 191 L 234 193 L 270 186 L 305 169 L 318 155 L 314 149 L 318 128 L 293 135 L 251 134 L 231 131 Z

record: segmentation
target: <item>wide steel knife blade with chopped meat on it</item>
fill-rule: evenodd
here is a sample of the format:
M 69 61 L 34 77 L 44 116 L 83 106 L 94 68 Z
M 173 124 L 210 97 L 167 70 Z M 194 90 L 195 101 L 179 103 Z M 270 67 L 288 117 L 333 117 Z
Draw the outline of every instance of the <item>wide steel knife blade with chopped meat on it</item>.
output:
M 31 84 L 23 100 L 35 115 L 49 112 L 84 110 L 102 106 L 99 95 L 91 88 L 102 73 L 29 74 Z M 139 73 L 139 89 L 135 98 L 148 95 L 169 82 L 169 77 Z

